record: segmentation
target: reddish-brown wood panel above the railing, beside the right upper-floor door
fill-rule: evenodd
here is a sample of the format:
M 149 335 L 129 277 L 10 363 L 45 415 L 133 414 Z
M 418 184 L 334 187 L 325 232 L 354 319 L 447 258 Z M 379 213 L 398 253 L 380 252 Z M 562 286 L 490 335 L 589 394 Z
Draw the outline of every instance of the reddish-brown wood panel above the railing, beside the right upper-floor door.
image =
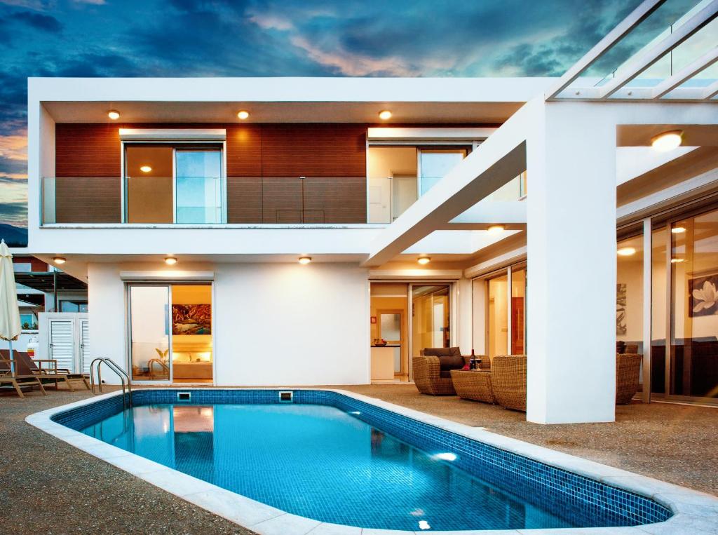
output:
M 262 126 L 265 177 L 366 177 L 366 126 Z

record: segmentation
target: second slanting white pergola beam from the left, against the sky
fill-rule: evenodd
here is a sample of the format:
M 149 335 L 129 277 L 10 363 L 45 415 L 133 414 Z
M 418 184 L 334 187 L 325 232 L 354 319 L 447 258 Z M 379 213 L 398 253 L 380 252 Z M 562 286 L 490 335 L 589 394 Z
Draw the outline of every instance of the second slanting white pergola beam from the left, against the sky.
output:
M 616 78 L 613 78 L 606 85 L 603 85 L 600 89 L 599 98 L 609 98 L 613 93 L 623 88 L 623 86 L 633 80 L 633 78 L 643 73 L 644 70 L 651 67 L 651 65 L 660 60 L 661 57 L 671 52 L 671 50 L 698 32 L 699 29 L 716 17 L 718 17 L 718 0 L 713 0 L 701 9 L 701 11 L 694 14 L 693 17 L 686 20 L 684 24 L 681 24 L 675 32 L 658 42 L 651 50 L 630 62 Z

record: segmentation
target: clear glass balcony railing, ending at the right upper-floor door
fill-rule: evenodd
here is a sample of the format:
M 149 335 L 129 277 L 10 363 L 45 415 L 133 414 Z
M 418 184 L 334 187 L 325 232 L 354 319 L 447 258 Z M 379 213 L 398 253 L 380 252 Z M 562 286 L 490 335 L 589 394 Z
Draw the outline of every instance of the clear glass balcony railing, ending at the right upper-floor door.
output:
M 42 223 L 367 223 L 365 177 L 44 177 Z

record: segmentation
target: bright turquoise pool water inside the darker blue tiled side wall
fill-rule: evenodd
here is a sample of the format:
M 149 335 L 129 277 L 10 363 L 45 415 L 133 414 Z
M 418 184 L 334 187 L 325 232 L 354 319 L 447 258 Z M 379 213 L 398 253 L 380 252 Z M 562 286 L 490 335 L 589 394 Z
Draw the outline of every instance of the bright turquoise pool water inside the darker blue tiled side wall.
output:
M 574 524 L 322 405 L 150 405 L 83 429 L 283 511 L 384 529 Z M 450 457 L 450 456 L 449 456 Z

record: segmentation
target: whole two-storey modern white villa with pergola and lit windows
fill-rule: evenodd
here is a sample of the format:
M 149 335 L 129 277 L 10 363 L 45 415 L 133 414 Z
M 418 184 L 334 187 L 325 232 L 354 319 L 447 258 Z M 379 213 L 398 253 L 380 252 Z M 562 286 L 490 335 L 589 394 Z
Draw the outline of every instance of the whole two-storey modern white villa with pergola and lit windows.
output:
M 611 422 L 627 352 L 643 401 L 715 403 L 716 2 L 594 73 L 655 4 L 555 79 L 31 78 L 14 252 L 87 282 L 85 353 L 135 383 L 457 347 L 528 355 L 531 422 Z

